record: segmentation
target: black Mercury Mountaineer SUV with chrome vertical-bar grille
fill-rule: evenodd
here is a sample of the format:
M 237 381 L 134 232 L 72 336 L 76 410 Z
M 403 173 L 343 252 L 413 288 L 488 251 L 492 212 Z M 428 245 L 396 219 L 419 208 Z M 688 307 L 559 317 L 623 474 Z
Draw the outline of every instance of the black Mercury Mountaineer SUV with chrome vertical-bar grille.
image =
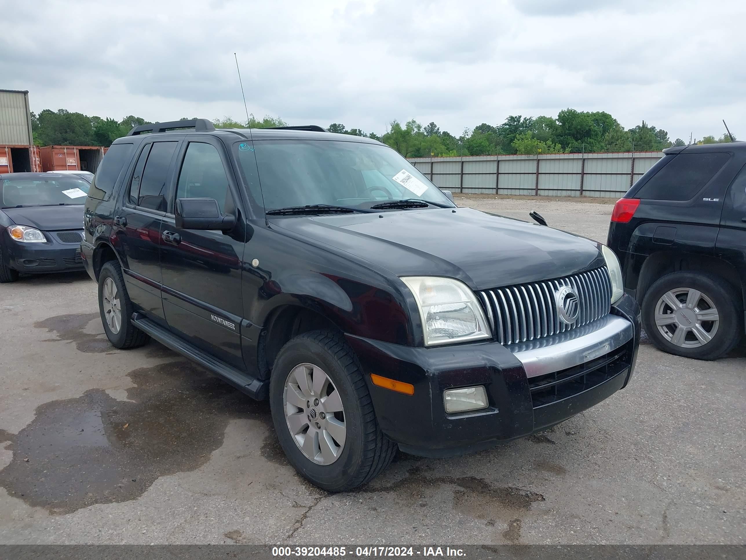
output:
M 367 138 L 137 127 L 84 219 L 113 345 L 153 337 L 269 398 L 290 463 L 329 491 L 397 447 L 454 455 L 546 429 L 635 366 L 639 307 L 606 246 L 457 208 Z

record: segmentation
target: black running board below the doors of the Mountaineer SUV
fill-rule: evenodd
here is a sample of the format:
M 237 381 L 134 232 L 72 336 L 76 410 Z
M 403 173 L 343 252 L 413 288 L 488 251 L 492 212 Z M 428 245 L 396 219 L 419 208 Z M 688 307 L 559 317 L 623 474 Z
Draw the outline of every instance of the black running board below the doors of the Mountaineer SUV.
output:
M 145 334 L 150 335 L 152 338 L 172 349 L 174 352 L 178 352 L 190 360 L 193 360 L 200 364 L 202 367 L 207 368 L 213 373 L 225 379 L 233 387 L 243 391 L 248 396 L 251 396 L 257 400 L 264 400 L 267 398 L 269 393 L 269 381 L 262 381 L 237 370 L 235 367 L 228 365 L 225 361 L 215 358 L 204 350 L 198 349 L 196 346 L 189 344 L 182 340 L 172 332 L 163 329 L 162 326 L 153 323 L 153 321 L 146 319 L 140 313 L 132 314 L 132 323 Z

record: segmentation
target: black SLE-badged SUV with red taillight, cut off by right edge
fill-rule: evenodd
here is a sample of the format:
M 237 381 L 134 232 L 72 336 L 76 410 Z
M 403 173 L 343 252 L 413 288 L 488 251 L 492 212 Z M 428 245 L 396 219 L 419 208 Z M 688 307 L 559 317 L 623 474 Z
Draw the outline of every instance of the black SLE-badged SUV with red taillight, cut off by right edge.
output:
M 652 342 L 714 360 L 746 328 L 746 143 L 663 152 L 616 203 L 609 247 Z

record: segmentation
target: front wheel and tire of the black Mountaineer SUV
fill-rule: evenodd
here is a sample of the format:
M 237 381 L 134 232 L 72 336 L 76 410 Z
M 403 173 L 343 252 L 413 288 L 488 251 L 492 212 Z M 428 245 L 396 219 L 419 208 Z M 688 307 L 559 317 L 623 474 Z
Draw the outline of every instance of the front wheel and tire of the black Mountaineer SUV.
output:
M 319 488 L 357 488 L 394 458 L 354 352 L 335 332 L 307 332 L 280 349 L 269 403 L 288 461 Z

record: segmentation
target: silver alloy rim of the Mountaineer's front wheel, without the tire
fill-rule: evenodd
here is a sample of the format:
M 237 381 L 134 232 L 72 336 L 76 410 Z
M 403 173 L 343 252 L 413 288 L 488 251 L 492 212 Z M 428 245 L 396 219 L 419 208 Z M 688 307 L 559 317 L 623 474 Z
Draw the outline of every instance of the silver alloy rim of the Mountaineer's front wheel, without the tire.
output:
M 285 420 L 295 444 L 314 463 L 332 464 L 345 448 L 342 399 L 321 367 L 298 364 L 283 391 Z

